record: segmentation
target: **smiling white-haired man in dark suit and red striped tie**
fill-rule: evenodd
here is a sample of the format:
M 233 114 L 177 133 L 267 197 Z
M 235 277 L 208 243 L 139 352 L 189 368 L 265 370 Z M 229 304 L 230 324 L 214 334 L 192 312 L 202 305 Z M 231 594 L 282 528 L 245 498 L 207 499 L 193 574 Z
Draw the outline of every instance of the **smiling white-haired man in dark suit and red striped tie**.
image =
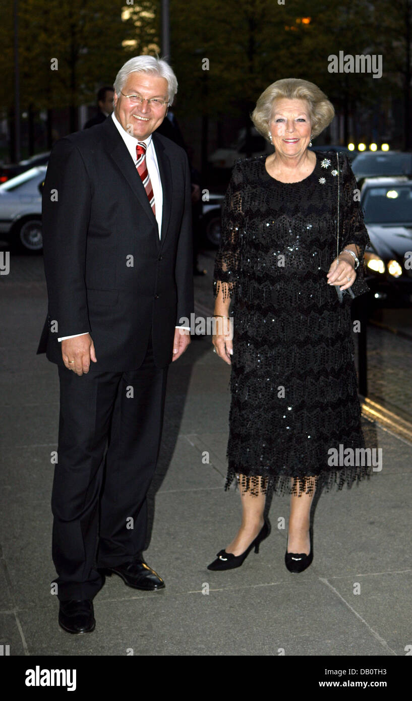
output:
M 139 56 L 114 86 L 114 113 L 55 144 L 43 188 L 48 319 L 38 353 L 60 376 L 53 561 L 59 622 L 71 633 L 94 629 L 104 574 L 164 587 L 142 554 L 146 492 L 167 366 L 188 346 L 193 311 L 188 160 L 156 134 L 176 78 L 165 61 Z

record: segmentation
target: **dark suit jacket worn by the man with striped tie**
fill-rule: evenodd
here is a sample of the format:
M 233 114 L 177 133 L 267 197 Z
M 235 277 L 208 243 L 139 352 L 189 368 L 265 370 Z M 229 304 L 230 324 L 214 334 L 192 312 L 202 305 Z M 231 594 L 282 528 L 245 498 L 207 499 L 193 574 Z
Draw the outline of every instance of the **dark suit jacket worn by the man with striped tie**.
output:
M 156 366 L 172 360 L 174 327 L 193 311 L 191 185 L 183 149 L 156 132 L 153 144 L 161 240 L 111 117 L 53 147 L 42 210 L 48 318 L 37 351 L 52 362 L 63 365 L 57 338 L 83 332 L 95 343 L 92 371 L 137 369 L 150 332 Z

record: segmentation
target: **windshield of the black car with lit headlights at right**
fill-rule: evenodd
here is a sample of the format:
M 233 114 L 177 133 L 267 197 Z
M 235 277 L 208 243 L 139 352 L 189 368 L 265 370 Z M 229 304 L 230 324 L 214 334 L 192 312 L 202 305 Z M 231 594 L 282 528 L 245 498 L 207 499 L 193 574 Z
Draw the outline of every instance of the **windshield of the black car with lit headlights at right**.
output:
M 412 184 L 370 187 L 362 203 L 366 224 L 412 222 Z

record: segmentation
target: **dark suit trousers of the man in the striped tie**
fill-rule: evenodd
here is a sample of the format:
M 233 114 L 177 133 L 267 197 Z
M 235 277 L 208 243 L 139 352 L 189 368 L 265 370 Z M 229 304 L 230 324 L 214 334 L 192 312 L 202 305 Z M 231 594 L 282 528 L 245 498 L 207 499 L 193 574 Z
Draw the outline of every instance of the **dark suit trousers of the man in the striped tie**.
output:
M 57 596 L 92 599 L 103 583 L 98 568 L 130 562 L 144 548 L 167 367 L 154 365 L 149 341 L 137 370 L 78 376 L 59 367 L 59 376 L 52 494 Z

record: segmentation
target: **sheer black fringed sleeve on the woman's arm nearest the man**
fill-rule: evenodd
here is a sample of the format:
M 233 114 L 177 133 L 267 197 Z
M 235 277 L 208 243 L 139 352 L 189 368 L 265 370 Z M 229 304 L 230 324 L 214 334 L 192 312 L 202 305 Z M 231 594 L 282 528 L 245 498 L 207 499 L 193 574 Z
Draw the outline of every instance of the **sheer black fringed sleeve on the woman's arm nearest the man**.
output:
M 233 297 L 240 266 L 239 230 L 242 227 L 242 169 L 233 168 L 221 217 L 221 244 L 214 261 L 214 297 L 222 290 L 224 300 Z

